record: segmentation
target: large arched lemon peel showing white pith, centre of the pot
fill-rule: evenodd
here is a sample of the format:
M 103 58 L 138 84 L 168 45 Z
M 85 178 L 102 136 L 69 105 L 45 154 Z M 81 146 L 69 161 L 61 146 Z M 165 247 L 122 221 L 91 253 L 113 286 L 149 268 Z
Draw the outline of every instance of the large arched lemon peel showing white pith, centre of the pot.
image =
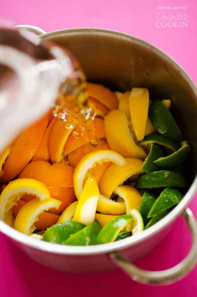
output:
M 87 171 L 104 162 L 114 162 L 120 166 L 126 164 L 126 160 L 120 154 L 110 150 L 93 151 L 85 155 L 75 167 L 73 174 L 73 185 L 77 199 L 79 199 L 82 193 Z

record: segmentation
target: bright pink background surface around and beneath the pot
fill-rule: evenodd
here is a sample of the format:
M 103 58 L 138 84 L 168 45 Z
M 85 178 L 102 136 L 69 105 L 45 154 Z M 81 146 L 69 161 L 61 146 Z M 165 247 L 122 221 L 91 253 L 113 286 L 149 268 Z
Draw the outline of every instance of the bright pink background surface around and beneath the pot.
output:
M 164 10 L 165 15 L 186 13 L 187 28 L 157 28 L 161 6 L 185 6 Z M 100 27 L 122 31 L 153 43 L 172 56 L 197 83 L 196 0 L 6 0 L 0 17 L 16 24 L 31 24 L 45 31 L 73 27 Z M 171 24 L 170 24 L 171 25 Z M 196 197 L 197 198 L 197 197 Z M 197 218 L 196 198 L 190 203 Z M 130 280 L 122 271 L 101 274 L 68 274 L 41 266 L 13 247 L 0 233 L 0 296 L 196 296 L 197 267 L 180 282 L 149 287 Z M 190 248 L 190 234 L 179 218 L 173 230 L 149 255 L 136 262 L 144 269 L 160 270 L 176 265 Z

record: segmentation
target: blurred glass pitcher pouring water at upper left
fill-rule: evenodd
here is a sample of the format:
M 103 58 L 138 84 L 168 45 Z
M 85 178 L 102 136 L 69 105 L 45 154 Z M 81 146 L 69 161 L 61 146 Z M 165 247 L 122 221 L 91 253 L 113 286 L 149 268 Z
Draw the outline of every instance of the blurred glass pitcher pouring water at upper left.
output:
M 0 29 L 0 152 L 51 108 L 60 88 L 74 93 L 82 81 L 70 51 L 18 29 Z

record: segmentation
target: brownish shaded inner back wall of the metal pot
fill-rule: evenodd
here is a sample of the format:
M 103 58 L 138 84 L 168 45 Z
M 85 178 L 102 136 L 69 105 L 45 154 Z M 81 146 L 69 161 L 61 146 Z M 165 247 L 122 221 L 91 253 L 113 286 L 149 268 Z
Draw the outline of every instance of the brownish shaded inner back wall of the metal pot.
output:
M 151 99 L 171 99 L 172 113 L 192 146 L 186 176 L 197 171 L 197 89 L 168 55 L 136 37 L 103 29 L 68 29 L 41 38 L 68 48 L 80 61 L 87 80 L 116 91 L 146 87 Z

